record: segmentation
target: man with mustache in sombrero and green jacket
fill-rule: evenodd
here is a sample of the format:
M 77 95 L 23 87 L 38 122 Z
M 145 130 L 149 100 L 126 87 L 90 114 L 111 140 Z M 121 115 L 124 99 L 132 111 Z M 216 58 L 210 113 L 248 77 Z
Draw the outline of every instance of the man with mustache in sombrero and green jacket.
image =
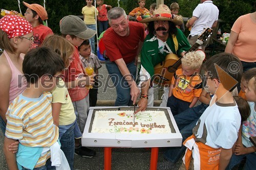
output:
M 144 40 L 141 50 L 140 84 L 141 96 L 138 102 L 138 111 L 144 111 L 146 107 L 154 104 L 154 90 L 150 88 L 151 78 L 154 76 L 154 66 L 164 61 L 168 54 L 183 56 L 189 50 L 190 45 L 186 36 L 176 25 L 183 22 L 182 17 L 172 15 L 166 5 L 159 5 L 152 16 L 142 19 L 140 22 L 148 22 L 149 34 Z M 166 107 L 169 87 L 164 88 L 163 102 L 160 106 Z

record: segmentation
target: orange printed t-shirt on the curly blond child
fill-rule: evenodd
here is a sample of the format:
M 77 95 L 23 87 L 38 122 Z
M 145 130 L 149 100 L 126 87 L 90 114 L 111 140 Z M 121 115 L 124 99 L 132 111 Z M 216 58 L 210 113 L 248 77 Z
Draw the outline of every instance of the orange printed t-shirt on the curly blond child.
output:
M 191 103 L 195 97 L 202 92 L 201 77 L 198 74 L 186 76 L 182 74 L 182 69 L 177 69 L 172 79 L 173 95 L 175 98 Z

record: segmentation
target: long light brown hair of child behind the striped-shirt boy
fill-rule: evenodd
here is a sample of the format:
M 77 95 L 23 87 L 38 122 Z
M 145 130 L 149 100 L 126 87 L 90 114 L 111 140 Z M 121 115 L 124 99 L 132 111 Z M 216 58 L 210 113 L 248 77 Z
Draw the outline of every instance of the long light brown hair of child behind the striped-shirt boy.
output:
M 74 45 L 65 38 L 58 35 L 50 35 L 42 42 L 42 46 L 47 46 L 54 50 L 63 59 L 65 67 L 69 65 L 69 57 L 74 53 Z

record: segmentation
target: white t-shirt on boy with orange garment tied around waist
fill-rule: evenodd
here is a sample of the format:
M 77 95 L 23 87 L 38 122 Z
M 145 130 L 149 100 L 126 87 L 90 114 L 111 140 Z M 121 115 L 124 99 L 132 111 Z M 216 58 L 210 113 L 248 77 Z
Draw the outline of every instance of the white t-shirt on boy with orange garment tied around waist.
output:
M 211 98 L 210 106 L 204 111 L 193 129 L 196 140 L 205 140 L 211 148 L 232 148 L 237 141 L 241 116 L 236 102 L 221 104 L 216 95 Z M 198 130 L 197 130 L 198 129 Z

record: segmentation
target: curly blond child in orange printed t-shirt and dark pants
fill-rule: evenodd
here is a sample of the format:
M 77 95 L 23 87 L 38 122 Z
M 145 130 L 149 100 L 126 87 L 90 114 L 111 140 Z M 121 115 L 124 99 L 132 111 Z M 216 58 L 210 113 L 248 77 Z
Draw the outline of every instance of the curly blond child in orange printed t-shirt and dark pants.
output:
M 173 115 L 194 107 L 202 92 L 201 77 L 197 74 L 204 57 L 197 52 L 189 52 L 182 59 L 182 66 L 177 69 L 169 89 L 167 107 Z

